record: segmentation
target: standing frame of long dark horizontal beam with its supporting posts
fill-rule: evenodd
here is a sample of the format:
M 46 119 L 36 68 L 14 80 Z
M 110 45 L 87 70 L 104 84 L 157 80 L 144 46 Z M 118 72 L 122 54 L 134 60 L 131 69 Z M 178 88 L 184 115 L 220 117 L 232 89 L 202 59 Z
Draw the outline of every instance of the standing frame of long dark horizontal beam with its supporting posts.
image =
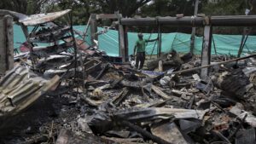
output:
M 225 15 L 212 17 L 156 17 L 156 18 L 122 18 L 119 20 L 119 26 L 178 26 L 178 27 L 204 27 L 204 37 L 201 52 L 201 66 L 206 66 L 211 63 L 211 46 L 212 46 L 212 26 L 256 26 L 256 15 Z M 120 37 L 127 37 L 124 33 Z M 125 42 L 125 38 L 119 38 Z M 160 37 L 161 39 L 161 37 Z M 125 48 L 125 49 L 123 49 Z M 123 60 L 128 58 L 128 47 L 122 45 L 119 49 Z M 159 50 L 160 52 L 160 50 Z M 160 55 L 160 54 L 159 54 Z M 208 69 L 201 69 L 201 78 L 207 78 Z

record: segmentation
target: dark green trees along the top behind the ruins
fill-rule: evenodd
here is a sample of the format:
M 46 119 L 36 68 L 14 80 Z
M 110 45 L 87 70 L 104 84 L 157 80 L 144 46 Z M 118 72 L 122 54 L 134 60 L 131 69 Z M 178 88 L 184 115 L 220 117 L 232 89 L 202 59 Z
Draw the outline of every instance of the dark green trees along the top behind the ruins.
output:
M 23 14 L 38 14 L 72 9 L 74 25 L 85 25 L 90 14 L 113 14 L 119 11 L 124 17 L 136 14 L 142 17 L 193 15 L 195 0 L 0 0 L 0 9 L 9 9 Z M 198 13 L 206 15 L 244 14 L 245 0 L 220 0 L 209 3 L 200 0 Z M 150 3 L 148 3 L 150 2 Z M 62 21 L 63 22 L 63 21 Z M 106 20 L 104 21 L 106 22 Z M 107 21 L 106 24 L 111 24 Z M 131 27 L 131 29 L 152 32 L 152 27 Z M 164 32 L 190 32 L 191 28 L 163 27 Z M 156 32 L 156 31 L 154 31 Z M 214 28 L 216 33 L 241 33 L 241 28 Z

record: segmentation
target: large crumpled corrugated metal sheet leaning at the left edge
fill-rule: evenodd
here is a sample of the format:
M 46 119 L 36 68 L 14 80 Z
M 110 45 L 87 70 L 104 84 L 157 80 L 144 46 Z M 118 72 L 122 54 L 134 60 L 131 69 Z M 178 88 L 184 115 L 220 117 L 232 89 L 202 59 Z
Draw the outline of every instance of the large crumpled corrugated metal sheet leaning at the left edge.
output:
M 55 88 L 59 80 L 58 76 L 47 80 L 24 66 L 16 66 L 0 81 L 0 118 L 29 107 L 49 89 Z

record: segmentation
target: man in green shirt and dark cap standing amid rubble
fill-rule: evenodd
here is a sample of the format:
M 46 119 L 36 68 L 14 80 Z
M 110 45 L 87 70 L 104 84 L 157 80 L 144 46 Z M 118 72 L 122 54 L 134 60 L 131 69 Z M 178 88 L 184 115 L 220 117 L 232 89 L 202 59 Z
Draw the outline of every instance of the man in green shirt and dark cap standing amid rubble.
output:
M 141 32 L 137 34 L 137 37 L 138 37 L 138 40 L 135 43 L 134 52 L 133 52 L 133 55 L 135 55 L 136 54 L 136 50 L 137 50 L 137 57 L 136 57 L 135 67 L 138 68 L 138 64 L 140 62 L 139 69 L 143 69 L 143 65 L 144 65 L 144 61 L 145 61 L 146 43 L 154 42 L 154 41 L 158 40 L 158 38 L 151 39 L 151 40 L 143 39 L 143 33 L 141 33 Z

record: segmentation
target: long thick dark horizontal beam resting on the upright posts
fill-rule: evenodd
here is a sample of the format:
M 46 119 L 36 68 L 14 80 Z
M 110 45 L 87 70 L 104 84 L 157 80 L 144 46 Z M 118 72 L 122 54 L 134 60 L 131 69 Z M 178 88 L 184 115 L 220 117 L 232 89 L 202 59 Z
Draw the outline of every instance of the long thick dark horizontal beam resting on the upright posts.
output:
M 122 18 L 120 24 L 124 26 L 182 26 L 198 27 L 207 26 L 207 17 L 184 16 L 177 17 L 157 17 L 156 18 Z M 255 26 L 256 15 L 224 15 L 209 17 L 211 26 Z

